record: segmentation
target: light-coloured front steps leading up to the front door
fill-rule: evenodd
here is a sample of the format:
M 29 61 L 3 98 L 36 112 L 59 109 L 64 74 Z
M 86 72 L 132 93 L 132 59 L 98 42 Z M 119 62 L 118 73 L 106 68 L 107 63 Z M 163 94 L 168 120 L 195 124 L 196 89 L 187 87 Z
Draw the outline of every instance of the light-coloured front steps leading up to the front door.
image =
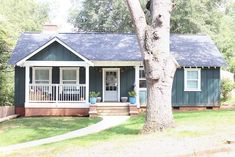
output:
M 124 103 L 102 103 L 97 105 L 97 112 L 100 116 L 127 116 L 129 107 Z

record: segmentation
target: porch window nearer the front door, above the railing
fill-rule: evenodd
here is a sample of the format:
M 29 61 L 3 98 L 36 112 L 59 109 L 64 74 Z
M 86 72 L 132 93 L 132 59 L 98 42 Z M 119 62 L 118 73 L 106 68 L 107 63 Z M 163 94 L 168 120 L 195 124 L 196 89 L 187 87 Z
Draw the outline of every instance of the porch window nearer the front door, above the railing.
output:
M 61 68 L 61 84 L 79 84 L 79 68 Z

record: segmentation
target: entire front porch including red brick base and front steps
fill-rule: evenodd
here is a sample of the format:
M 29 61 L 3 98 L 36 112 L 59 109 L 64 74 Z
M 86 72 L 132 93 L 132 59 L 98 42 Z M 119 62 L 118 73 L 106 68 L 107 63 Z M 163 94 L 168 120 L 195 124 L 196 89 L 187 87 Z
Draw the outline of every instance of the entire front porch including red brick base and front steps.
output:
M 62 65 L 62 66 L 61 66 Z M 89 66 L 84 62 L 26 61 L 24 64 L 25 115 L 87 116 L 89 92 L 100 92 L 97 115 L 137 114 L 139 66 Z M 121 103 L 128 91 L 135 90 L 137 103 Z

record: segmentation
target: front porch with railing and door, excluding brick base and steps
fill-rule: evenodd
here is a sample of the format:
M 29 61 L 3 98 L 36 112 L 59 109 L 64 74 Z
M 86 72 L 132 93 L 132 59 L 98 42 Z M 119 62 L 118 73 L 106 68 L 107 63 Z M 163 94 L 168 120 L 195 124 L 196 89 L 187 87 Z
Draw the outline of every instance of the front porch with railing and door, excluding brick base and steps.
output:
M 57 61 L 27 61 L 25 107 L 89 108 L 90 91 L 100 92 L 101 102 L 115 104 L 135 90 L 139 100 L 139 66 L 90 67 L 73 63 L 59 66 Z

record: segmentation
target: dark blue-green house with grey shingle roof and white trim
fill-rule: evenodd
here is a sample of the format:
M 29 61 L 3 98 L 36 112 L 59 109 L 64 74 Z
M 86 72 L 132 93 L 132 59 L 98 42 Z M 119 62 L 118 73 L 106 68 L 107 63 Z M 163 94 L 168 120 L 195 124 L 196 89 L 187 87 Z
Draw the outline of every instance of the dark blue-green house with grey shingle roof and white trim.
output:
M 173 83 L 173 107 L 218 107 L 225 61 L 216 45 L 205 35 L 170 39 L 181 66 Z M 121 97 L 133 89 L 137 108 L 146 102 L 142 57 L 133 34 L 23 33 L 9 63 L 15 67 L 16 113 L 22 115 L 88 115 L 90 91 L 100 92 L 101 107 L 125 106 Z

